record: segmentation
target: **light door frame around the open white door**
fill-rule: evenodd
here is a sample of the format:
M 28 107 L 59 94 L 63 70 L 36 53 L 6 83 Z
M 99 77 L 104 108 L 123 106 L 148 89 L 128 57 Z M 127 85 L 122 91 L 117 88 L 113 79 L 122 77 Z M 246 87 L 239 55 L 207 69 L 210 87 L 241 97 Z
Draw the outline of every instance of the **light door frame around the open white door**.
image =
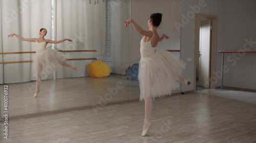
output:
M 211 30 L 211 49 L 210 49 L 210 89 L 216 89 L 216 70 L 217 70 L 217 38 L 218 38 L 218 16 L 197 13 L 195 16 L 195 47 L 194 47 L 194 92 L 196 92 L 196 68 L 197 61 L 196 56 L 198 56 L 198 51 L 196 50 L 199 46 L 199 35 L 200 27 L 197 26 L 199 18 L 210 18 L 212 20 L 212 30 Z

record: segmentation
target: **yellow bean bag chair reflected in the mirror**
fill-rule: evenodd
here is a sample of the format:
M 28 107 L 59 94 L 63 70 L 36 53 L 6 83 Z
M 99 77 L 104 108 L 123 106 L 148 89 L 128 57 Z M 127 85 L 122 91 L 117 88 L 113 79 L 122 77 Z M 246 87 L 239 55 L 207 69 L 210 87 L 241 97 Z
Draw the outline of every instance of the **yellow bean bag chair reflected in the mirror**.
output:
M 89 72 L 91 77 L 108 77 L 111 69 L 108 64 L 101 61 L 96 61 L 89 64 Z

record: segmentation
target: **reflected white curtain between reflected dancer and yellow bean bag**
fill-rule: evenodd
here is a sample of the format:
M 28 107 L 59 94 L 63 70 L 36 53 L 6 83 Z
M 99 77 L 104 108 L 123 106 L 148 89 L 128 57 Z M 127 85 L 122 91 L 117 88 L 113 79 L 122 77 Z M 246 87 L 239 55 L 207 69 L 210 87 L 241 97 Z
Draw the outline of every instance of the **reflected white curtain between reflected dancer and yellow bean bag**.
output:
M 69 38 L 57 44 L 62 50 L 99 50 L 99 60 L 103 61 L 105 51 L 105 3 L 89 3 L 85 0 L 56 2 L 56 40 Z M 67 59 L 96 58 L 96 52 L 63 52 Z M 96 60 L 67 61 L 80 68 L 75 71 L 67 67 L 58 69 L 57 78 L 79 77 L 89 75 L 89 64 Z

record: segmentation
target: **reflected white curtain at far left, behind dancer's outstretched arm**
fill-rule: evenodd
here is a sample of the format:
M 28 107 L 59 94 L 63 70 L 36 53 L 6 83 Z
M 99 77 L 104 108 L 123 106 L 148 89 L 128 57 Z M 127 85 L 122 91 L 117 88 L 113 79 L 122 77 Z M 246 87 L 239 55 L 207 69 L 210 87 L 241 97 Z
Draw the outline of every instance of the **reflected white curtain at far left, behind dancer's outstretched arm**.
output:
M 8 0 L 1 1 L 2 35 L 1 52 L 35 51 L 33 42 L 19 40 L 15 33 L 24 38 L 38 38 L 40 28 L 48 30 L 46 39 L 51 39 L 51 0 Z M 1 62 L 32 61 L 34 53 L 5 54 Z M 33 80 L 32 63 L 1 64 L 1 83 Z

